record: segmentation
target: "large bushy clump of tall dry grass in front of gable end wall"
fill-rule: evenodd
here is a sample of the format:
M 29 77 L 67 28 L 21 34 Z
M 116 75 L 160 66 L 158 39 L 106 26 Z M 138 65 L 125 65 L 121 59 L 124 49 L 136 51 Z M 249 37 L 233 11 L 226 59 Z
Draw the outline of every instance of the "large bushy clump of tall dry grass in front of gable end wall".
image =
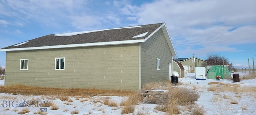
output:
M 181 82 L 179 83 L 182 85 Z M 172 83 L 166 81 L 148 83 L 142 87 L 142 91 L 152 89 L 165 89 L 168 90 L 168 92 L 159 96 L 146 97 L 143 99 L 143 101 L 145 103 L 158 104 L 155 107 L 156 110 L 167 112 L 167 115 L 172 115 L 180 114 L 178 105 L 192 105 L 200 97 L 200 93 L 196 90 L 191 90 L 187 87 L 173 86 L 174 85 L 172 85 Z M 194 87 L 194 89 L 197 89 L 197 87 Z M 131 99 L 128 98 L 127 100 L 130 101 Z

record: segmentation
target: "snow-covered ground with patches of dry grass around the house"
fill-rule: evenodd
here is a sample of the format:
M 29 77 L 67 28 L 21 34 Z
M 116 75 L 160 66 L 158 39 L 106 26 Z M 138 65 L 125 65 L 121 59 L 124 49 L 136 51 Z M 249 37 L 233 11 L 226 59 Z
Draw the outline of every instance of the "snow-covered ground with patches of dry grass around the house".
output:
M 248 73 L 239 73 L 239 76 L 242 77 Z M 231 73 L 232 75 L 232 73 Z M 187 73 L 185 77 L 179 78 L 178 81 L 182 82 L 186 87 L 195 88 L 201 92 L 201 96 L 196 101 L 198 105 L 203 105 L 206 110 L 206 115 L 256 115 L 256 94 L 255 92 L 243 93 L 238 92 L 240 97 L 237 97 L 233 92 L 220 92 L 220 91 L 207 91 L 208 83 L 210 82 L 221 82 L 227 84 L 240 84 L 240 87 L 254 87 L 256 88 L 256 79 L 250 80 L 241 80 L 240 82 L 233 82 L 232 80 L 220 80 L 216 79 L 206 79 L 206 80 L 196 80 L 194 79 L 194 73 Z M 0 80 L 0 85 L 4 85 L 4 80 Z M 218 84 L 217 84 L 218 85 Z M 227 86 L 232 87 L 232 86 Z M 223 99 L 223 97 L 228 97 L 228 99 Z M 9 98 L 10 97 L 10 98 Z M 108 107 L 107 105 L 102 104 L 104 99 L 113 100 L 118 103 L 121 103 L 122 99 L 127 97 L 117 97 L 117 96 L 94 96 L 94 97 L 70 97 L 73 102 L 61 101 L 60 99 L 51 100 L 50 97 L 44 96 L 24 96 L 24 95 L 10 95 L 6 93 L 0 93 L 0 114 L 1 115 L 16 115 L 18 111 L 21 111 L 23 108 L 29 108 L 30 113 L 26 115 L 34 115 L 38 113 L 39 107 L 16 107 L 17 103 L 23 102 L 24 100 L 34 99 L 43 99 L 43 101 L 52 101 L 54 102 L 59 109 L 51 110 L 51 107 L 47 107 L 47 113 L 50 115 L 71 115 L 71 112 L 74 110 L 79 111 L 79 115 L 120 115 L 122 107 Z M 222 98 L 222 99 L 216 99 Z M 78 100 L 79 99 L 79 100 Z M 87 101 L 81 102 L 82 99 L 87 99 Z M 230 99 L 233 99 L 238 102 L 238 104 L 231 104 Z M 12 104 L 13 102 L 13 104 Z M 135 115 L 137 111 L 140 113 L 145 113 L 146 115 L 165 115 L 166 113 L 154 110 L 156 107 L 155 104 L 140 104 L 135 106 Z M 245 107 L 246 109 L 242 109 Z M 128 115 L 134 115 L 130 113 Z

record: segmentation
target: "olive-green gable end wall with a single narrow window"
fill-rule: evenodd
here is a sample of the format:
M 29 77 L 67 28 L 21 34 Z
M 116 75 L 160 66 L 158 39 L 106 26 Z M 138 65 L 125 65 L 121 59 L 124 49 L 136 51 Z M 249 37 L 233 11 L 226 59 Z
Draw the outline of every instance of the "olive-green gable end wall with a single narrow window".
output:
M 141 85 L 158 80 L 169 79 L 169 63 L 172 54 L 162 29 L 146 42 L 141 43 Z M 161 60 L 161 70 L 157 70 L 157 58 Z

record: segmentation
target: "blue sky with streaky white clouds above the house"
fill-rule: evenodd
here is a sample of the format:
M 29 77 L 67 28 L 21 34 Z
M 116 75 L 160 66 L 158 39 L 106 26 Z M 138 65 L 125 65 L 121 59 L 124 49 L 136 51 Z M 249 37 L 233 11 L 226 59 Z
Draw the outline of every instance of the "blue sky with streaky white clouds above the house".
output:
M 256 0 L 1 0 L 0 48 L 48 34 L 165 22 L 177 57 L 220 54 L 248 68 L 248 58 L 256 63 L 255 6 Z M 1 66 L 5 60 L 0 52 Z

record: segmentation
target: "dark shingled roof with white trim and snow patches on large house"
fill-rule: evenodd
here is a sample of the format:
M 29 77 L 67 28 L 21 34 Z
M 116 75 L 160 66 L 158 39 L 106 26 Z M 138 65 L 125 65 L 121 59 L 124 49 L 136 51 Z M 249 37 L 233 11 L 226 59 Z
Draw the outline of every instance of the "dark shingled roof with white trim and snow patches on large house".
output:
M 84 32 L 72 32 L 65 34 L 50 34 L 2 48 L 0 51 L 38 50 L 141 43 L 145 42 L 148 38 L 150 38 L 150 36 L 152 36 L 161 28 L 164 32 L 164 36 L 166 37 L 170 50 L 172 53 L 174 53 L 174 55 L 176 55 L 165 23 Z

